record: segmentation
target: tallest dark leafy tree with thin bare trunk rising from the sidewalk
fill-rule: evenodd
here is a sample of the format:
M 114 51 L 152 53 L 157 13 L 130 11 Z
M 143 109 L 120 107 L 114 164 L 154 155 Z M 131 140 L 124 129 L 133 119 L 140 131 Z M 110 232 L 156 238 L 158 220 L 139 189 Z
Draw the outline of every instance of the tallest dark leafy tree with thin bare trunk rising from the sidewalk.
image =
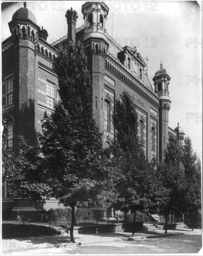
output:
M 53 195 L 72 208 L 72 242 L 75 207 L 95 202 L 107 206 L 113 189 L 112 161 L 103 154 L 101 133 L 92 118 L 87 64 L 81 44 L 75 47 L 70 42 L 58 49 L 53 67 L 61 101 L 51 117 L 44 115 L 43 135 L 39 135 Z

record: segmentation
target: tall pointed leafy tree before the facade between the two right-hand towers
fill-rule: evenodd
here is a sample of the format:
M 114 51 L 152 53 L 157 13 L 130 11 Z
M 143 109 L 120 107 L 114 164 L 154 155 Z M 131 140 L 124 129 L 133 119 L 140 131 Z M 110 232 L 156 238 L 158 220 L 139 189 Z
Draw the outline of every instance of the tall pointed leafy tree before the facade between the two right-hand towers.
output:
M 163 200 L 165 194 L 158 184 L 159 179 L 154 175 L 156 164 L 146 161 L 138 135 L 138 114 L 125 92 L 122 101 L 116 101 L 113 122 L 116 129 L 113 155 L 119 170 L 115 182 L 117 196 L 114 208 L 125 213 L 130 210 L 135 221 L 137 210 L 159 208 L 160 198 Z

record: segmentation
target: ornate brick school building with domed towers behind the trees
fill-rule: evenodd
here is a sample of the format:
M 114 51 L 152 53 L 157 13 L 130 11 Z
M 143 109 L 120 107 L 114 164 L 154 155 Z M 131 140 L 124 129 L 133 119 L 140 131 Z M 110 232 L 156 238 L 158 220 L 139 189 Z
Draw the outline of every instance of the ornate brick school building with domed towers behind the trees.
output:
M 8 23 L 11 36 L 2 42 L 2 111 L 9 122 L 8 147 L 18 152 L 18 135 L 30 144 L 37 143 L 36 132 L 41 131 L 44 111 L 51 114 L 58 99 L 57 75 L 52 70 L 52 59 L 60 43 L 82 41 L 92 78 L 93 116 L 103 132 L 103 145 L 114 140 L 115 130 L 111 115 L 114 102 L 125 90 L 133 99 L 140 118 L 139 134 L 146 158 L 163 161 L 169 133 L 183 144 L 184 131 L 168 127 L 170 110 L 170 80 L 162 63 L 151 84 L 147 66 L 136 48 L 121 47 L 106 30 L 108 7 L 104 2 L 82 5 L 84 25 L 76 29 L 77 13 L 66 12 L 68 35 L 52 44 L 48 32 L 37 24 L 30 9 L 19 8 Z M 15 218 L 25 211 L 36 211 L 40 206 L 27 205 L 21 199 L 7 195 L 3 184 L 3 209 Z M 57 200 L 49 200 L 44 208 L 58 207 Z

